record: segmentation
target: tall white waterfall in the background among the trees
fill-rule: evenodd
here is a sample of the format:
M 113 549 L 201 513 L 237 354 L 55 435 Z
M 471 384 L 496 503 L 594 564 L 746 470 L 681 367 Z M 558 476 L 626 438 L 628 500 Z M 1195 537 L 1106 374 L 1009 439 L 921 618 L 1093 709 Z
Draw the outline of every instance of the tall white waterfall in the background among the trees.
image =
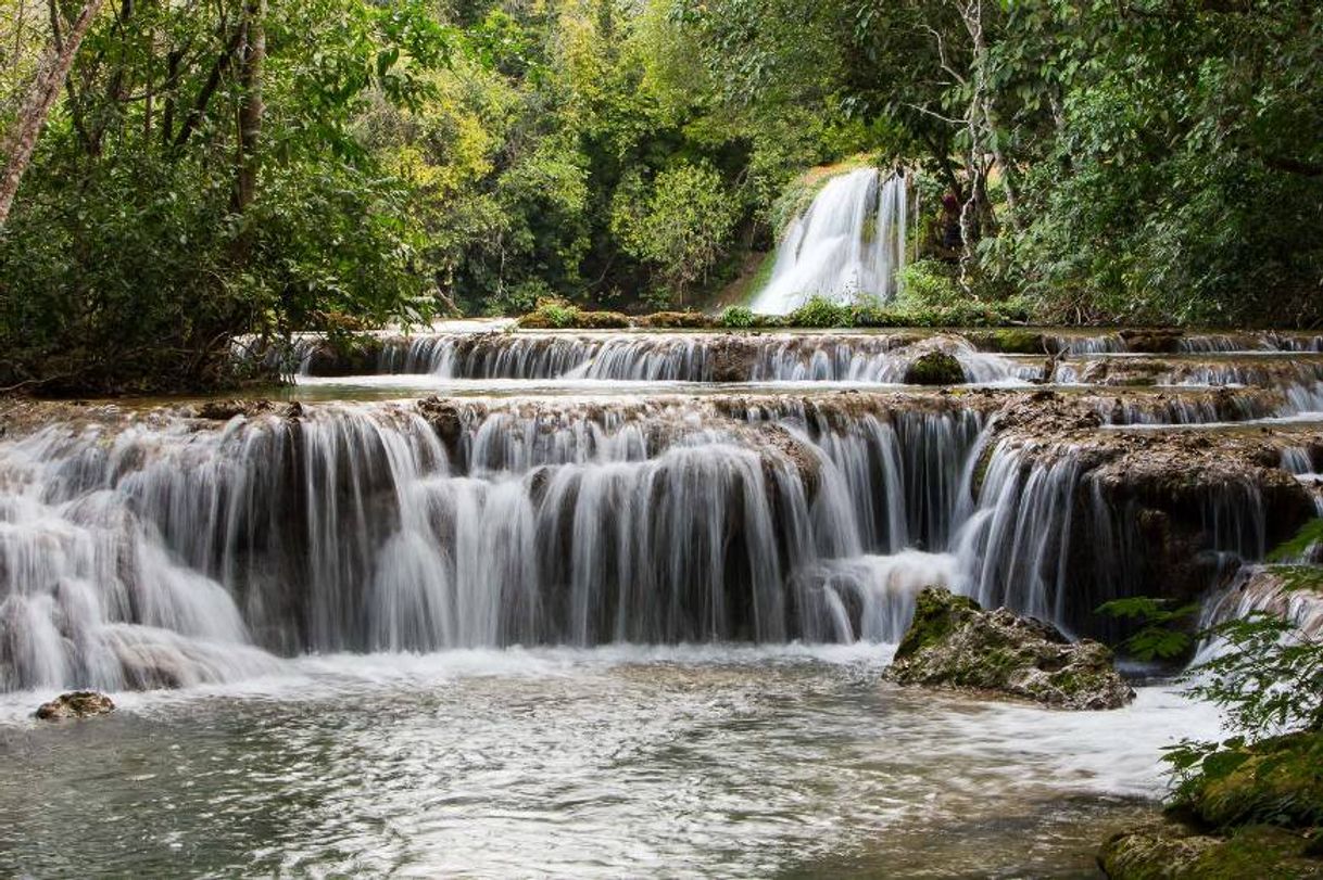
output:
M 890 299 L 905 266 L 906 178 L 860 168 L 828 181 L 790 225 L 753 311 L 786 314 L 811 296 Z

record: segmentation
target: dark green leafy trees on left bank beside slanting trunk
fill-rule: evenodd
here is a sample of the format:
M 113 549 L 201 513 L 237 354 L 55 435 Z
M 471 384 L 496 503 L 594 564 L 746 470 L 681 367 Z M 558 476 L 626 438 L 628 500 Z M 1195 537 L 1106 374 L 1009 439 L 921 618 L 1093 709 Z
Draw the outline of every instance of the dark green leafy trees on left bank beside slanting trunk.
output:
M 417 3 L 361 0 L 273 5 L 261 25 L 265 112 L 242 156 L 235 21 L 168 4 L 97 20 L 0 234 L 0 386 L 214 386 L 235 334 L 430 313 L 409 192 L 352 123 L 369 92 L 425 96 L 443 30 Z

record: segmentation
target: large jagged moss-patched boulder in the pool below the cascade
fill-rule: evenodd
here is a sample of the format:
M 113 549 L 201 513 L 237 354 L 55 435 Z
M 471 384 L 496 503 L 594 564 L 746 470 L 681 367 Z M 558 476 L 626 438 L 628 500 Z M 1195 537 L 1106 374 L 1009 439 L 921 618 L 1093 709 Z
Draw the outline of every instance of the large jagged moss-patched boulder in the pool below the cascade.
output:
M 1072 643 L 1054 626 L 1004 608 L 929 587 L 886 671 L 900 684 L 970 688 L 1069 710 L 1119 708 L 1135 692 L 1113 666 L 1111 650 Z

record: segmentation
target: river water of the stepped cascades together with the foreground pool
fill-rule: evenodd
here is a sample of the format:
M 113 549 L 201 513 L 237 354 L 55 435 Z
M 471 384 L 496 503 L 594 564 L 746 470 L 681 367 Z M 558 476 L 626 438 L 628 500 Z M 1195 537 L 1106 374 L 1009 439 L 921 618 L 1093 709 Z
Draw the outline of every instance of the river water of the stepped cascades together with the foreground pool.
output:
M 445 326 L 243 412 L 15 431 L 0 873 L 1089 876 L 1207 707 L 880 675 L 929 584 L 1077 636 L 1152 587 L 1090 437 L 1002 429 L 1044 394 L 1097 436 L 1274 437 L 1314 485 L 1316 355 L 1207 338 L 1130 387 L 1119 336 L 1045 369 L 955 333 Z M 904 385 L 934 349 L 964 387 Z M 1275 601 L 1226 592 L 1259 485 L 1184 503 L 1209 613 Z M 122 710 L 30 720 L 81 686 Z

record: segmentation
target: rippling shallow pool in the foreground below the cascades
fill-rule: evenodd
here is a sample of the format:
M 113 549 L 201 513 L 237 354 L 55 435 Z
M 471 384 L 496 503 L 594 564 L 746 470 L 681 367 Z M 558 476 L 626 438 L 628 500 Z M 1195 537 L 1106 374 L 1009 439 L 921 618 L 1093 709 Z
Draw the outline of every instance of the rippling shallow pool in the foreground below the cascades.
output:
M 1094 876 L 1217 719 L 896 688 L 889 649 L 290 661 L 38 725 L 0 696 L 0 875 Z

